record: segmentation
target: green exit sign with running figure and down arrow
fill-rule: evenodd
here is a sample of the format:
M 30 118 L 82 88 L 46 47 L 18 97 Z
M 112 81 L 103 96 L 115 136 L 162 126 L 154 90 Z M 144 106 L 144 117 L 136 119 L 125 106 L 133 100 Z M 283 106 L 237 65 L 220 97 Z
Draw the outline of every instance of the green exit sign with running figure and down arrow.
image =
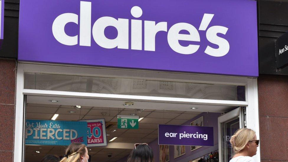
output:
M 138 129 L 139 116 L 117 115 L 119 129 Z

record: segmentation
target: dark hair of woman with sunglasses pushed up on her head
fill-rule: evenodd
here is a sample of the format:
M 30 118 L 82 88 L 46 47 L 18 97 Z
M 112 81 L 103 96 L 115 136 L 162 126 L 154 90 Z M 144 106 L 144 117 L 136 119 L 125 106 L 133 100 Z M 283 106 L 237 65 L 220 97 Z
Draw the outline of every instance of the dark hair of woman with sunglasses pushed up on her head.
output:
M 148 145 L 140 144 L 131 151 L 127 162 L 154 162 L 153 150 Z

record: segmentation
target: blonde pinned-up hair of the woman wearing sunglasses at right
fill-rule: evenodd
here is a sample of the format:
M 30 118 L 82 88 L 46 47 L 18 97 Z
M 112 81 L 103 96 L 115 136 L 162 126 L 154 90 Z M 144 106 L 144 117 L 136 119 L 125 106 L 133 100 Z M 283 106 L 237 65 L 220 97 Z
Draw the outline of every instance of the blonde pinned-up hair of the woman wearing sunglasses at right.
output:
M 253 140 L 255 131 L 248 128 L 238 129 L 230 139 L 234 153 L 243 150 L 246 144 Z

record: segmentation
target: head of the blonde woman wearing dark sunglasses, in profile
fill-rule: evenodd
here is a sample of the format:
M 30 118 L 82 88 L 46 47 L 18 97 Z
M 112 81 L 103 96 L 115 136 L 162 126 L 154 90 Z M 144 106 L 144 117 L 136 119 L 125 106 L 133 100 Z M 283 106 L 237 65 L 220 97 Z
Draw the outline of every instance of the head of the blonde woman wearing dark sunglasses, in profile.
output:
M 247 156 L 254 156 L 257 152 L 257 138 L 254 130 L 248 128 L 238 129 L 230 139 L 234 153 L 246 151 Z

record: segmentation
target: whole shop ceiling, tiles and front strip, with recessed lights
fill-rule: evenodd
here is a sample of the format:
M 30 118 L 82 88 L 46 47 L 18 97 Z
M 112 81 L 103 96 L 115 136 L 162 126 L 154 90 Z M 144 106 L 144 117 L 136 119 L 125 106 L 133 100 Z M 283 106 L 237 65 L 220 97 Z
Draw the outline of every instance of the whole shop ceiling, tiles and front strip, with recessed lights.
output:
M 57 100 L 58 102 L 50 102 Z M 161 102 L 133 101 L 133 106 L 123 106 L 123 100 L 83 99 L 49 96 L 27 96 L 26 118 L 37 120 L 50 120 L 53 114 L 59 114 L 56 120 L 77 121 L 85 119 L 104 118 L 112 127 L 106 130 L 107 141 L 118 137 L 116 143 L 149 143 L 158 138 L 158 124 L 181 125 L 202 112 L 225 112 L 233 109 L 229 106 L 211 106 L 196 104 L 176 104 Z M 74 105 L 81 105 L 81 111 L 76 110 Z M 196 110 L 191 107 L 198 107 Z M 144 109 L 144 110 L 143 110 Z M 143 110 L 141 112 L 141 110 Z M 75 111 L 70 113 L 69 111 Z M 144 117 L 139 122 L 139 129 L 117 129 L 117 114 L 130 115 L 136 113 Z M 41 147 L 42 149 L 39 149 Z M 91 160 L 97 162 L 117 161 L 127 156 L 131 149 L 91 147 L 89 155 Z M 40 153 L 35 151 L 39 150 Z M 64 154 L 64 146 L 26 146 L 25 161 L 37 162 L 47 154 L 61 156 Z M 112 153 L 111 158 L 107 154 Z

